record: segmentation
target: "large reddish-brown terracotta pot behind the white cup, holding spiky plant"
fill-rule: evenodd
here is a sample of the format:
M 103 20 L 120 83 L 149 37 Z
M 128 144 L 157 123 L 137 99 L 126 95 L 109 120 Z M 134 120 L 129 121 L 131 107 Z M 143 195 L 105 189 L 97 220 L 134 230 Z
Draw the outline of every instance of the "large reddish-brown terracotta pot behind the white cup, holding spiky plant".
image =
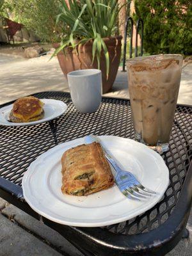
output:
M 101 53 L 100 58 L 100 70 L 102 71 L 102 92 L 106 93 L 112 88 L 113 83 L 116 78 L 116 74 L 118 72 L 118 66 L 120 64 L 120 56 L 121 56 L 121 47 L 122 47 L 122 36 L 111 36 L 109 38 L 104 38 L 104 42 L 108 47 L 109 51 L 109 77 L 106 77 L 106 60 L 104 57 L 104 53 Z M 84 45 L 79 45 L 76 51 L 72 50 L 72 48 L 65 48 L 65 54 L 63 51 L 58 53 L 58 61 L 60 63 L 61 70 L 65 77 L 67 77 L 67 73 L 86 68 L 98 68 L 97 60 L 92 65 L 92 45 L 93 43 L 87 42 Z M 54 44 L 55 48 L 59 47 L 60 44 Z M 78 53 L 78 54 L 77 54 Z

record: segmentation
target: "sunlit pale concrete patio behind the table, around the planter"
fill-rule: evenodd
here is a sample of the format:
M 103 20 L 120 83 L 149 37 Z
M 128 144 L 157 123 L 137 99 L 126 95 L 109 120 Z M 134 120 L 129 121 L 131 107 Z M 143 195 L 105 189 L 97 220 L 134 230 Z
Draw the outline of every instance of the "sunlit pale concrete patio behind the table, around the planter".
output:
M 68 92 L 67 80 L 61 72 L 57 58 L 41 56 L 26 60 L 0 54 L 0 104 L 35 92 L 60 90 Z M 127 74 L 119 68 L 113 90 L 106 96 L 129 98 Z M 182 70 L 177 103 L 192 104 L 192 63 Z

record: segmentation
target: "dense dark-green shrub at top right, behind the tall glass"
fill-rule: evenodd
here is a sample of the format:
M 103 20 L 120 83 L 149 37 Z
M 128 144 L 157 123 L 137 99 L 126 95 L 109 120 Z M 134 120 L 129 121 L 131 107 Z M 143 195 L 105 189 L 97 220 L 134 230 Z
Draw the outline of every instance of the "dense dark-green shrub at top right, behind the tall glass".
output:
M 192 5 L 189 0 L 135 0 L 144 22 L 144 48 L 150 54 L 192 54 Z

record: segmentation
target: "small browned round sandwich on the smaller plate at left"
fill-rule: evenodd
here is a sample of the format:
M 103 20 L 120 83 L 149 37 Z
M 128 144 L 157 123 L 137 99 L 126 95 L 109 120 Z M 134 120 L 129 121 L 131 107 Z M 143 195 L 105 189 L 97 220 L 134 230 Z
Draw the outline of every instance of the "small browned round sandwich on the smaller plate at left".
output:
M 22 97 L 13 103 L 10 112 L 10 121 L 14 123 L 26 123 L 40 120 L 44 117 L 44 102 L 36 97 Z

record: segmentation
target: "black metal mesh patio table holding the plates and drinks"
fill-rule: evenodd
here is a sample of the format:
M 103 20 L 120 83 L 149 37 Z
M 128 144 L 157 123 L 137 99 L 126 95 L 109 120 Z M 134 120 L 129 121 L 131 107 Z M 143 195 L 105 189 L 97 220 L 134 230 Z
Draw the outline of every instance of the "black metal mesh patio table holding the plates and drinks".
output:
M 192 199 L 191 106 L 177 105 L 170 150 L 161 155 L 170 170 L 170 185 L 164 198 L 132 220 L 108 227 L 80 228 L 54 223 L 33 211 L 22 195 L 22 176 L 36 157 L 58 143 L 91 133 L 134 138 L 130 101 L 103 97 L 100 109 L 85 115 L 76 111 L 69 93 L 42 92 L 35 96 L 63 100 L 68 111 L 57 120 L 36 126 L 0 126 L 2 198 L 58 231 L 86 256 L 163 256 L 182 236 L 188 237 L 186 223 Z

